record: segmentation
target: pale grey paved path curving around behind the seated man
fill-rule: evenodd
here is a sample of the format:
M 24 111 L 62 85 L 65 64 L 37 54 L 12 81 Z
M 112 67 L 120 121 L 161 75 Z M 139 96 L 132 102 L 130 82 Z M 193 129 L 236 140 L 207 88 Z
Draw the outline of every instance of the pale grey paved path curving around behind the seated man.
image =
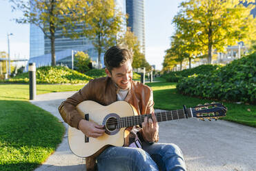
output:
M 57 107 L 74 92 L 37 95 L 31 103 L 61 119 Z M 67 124 L 63 123 L 66 127 Z M 181 119 L 159 123 L 161 143 L 177 144 L 188 171 L 256 171 L 256 129 L 227 121 Z M 35 171 L 85 170 L 85 161 L 68 148 L 67 134 L 56 152 Z

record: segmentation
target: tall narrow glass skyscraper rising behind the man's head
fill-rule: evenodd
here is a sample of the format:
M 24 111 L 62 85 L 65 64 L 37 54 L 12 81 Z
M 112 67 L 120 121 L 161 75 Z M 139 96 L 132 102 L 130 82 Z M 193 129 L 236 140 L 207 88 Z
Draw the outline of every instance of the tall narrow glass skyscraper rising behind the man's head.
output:
M 145 54 L 145 1 L 126 0 L 127 27 L 135 34 Z

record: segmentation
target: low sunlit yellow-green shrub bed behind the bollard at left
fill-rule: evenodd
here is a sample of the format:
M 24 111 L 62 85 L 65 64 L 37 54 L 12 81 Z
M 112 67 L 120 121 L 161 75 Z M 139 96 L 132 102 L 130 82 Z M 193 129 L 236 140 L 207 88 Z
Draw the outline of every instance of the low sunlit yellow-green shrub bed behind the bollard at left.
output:
M 75 70 L 63 66 L 43 66 L 37 68 L 36 72 L 37 83 L 87 83 L 92 77 L 88 77 L 86 74 L 81 74 Z M 8 80 L 1 82 L 7 83 L 28 83 L 28 72 L 18 74 Z

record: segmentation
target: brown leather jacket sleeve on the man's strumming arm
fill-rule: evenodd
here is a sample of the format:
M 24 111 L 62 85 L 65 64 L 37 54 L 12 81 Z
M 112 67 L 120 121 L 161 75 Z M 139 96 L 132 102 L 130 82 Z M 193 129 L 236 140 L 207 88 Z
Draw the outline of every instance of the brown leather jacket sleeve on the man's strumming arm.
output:
M 83 119 L 77 111 L 76 106 L 82 101 L 90 99 L 90 94 L 92 93 L 90 91 L 91 84 L 91 82 L 87 83 L 81 90 L 68 97 L 66 101 L 63 101 L 59 105 L 59 114 L 61 114 L 61 117 L 68 125 L 74 128 L 78 129 L 79 121 Z

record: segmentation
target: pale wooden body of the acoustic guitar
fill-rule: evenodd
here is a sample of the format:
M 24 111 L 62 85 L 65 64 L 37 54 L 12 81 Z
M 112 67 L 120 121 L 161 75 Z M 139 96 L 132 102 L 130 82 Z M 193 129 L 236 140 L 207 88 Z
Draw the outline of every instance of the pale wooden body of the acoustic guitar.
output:
M 89 121 L 99 125 L 106 125 L 108 122 L 112 123 L 118 117 L 137 115 L 135 108 L 126 101 L 116 101 L 106 106 L 100 105 L 95 101 L 83 101 L 77 105 L 77 110 L 83 119 L 88 114 Z M 78 157 L 90 157 L 96 152 L 101 152 L 108 145 L 123 146 L 127 136 L 126 128 L 106 128 L 103 136 L 97 139 L 89 137 L 87 142 L 83 132 L 76 128 L 68 127 L 70 150 Z

